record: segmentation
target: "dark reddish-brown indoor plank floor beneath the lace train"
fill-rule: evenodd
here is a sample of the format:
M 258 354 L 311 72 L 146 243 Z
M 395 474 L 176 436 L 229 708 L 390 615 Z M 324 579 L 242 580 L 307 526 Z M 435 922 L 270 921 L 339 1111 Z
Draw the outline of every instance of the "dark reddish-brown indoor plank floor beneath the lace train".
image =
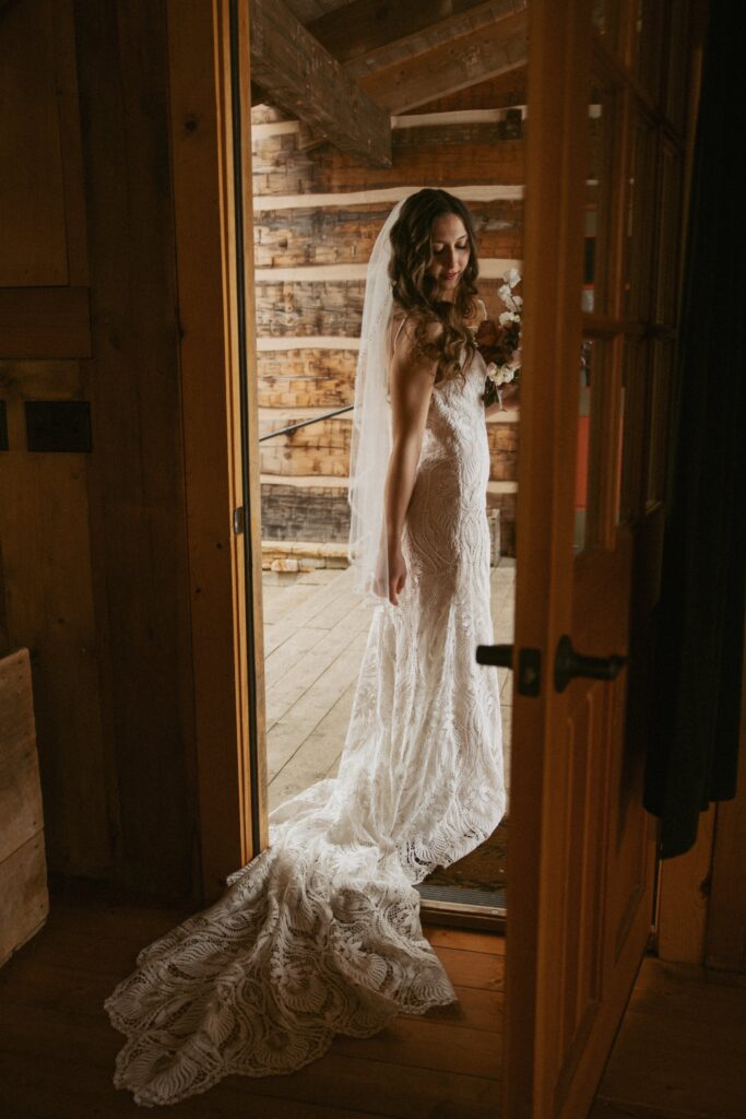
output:
M 2 1119 L 142 1115 L 112 1085 L 122 1036 L 104 998 L 140 948 L 186 910 L 53 899 L 47 925 L 0 971 Z M 158 1113 L 182 1119 L 488 1119 L 499 1116 L 500 937 L 426 930 L 457 1006 L 399 1017 L 367 1041 L 337 1038 L 291 1076 L 229 1076 Z M 746 988 L 705 985 L 699 969 L 643 961 L 593 1119 L 743 1119 Z M 580 1117 L 578 1117 L 580 1119 Z

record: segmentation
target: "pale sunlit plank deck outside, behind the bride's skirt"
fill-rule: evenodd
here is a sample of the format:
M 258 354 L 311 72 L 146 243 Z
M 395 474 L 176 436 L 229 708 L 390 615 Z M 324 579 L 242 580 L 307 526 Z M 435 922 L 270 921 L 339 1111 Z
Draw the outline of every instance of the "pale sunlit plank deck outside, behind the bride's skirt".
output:
M 500 642 L 512 640 L 514 573 L 511 560 L 503 558 L 492 568 L 491 609 L 494 639 Z M 352 590 L 350 568 L 301 574 L 265 571 L 262 585 L 268 803 L 273 809 L 337 772 L 371 608 Z M 508 670 L 497 671 L 508 783 L 511 690 Z

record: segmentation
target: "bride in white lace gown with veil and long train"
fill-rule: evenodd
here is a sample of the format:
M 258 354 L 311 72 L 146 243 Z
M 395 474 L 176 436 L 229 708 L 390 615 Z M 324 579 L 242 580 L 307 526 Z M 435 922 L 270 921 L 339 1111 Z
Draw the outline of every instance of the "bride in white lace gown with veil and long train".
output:
M 497 678 L 475 662 L 492 640 L 476 275 L 460 199 L 424 189 L 394 207 L 355 386 L 350 560 L 375 609 L 339 774 L 277 807 L 268 848 L 106 999 L 128 1037 L 114 1084 L 138 1103 L 289 1073 L 336 1033 L 456 999 L 415 884 L 506 806 Z

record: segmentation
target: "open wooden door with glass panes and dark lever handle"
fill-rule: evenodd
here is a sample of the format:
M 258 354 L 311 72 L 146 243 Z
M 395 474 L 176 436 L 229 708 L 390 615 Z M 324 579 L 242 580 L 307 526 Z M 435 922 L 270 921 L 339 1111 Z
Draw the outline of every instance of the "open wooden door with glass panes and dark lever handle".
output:
M 530 6 L 508 1119 L 587 1113 L 651 929 L 643 681 L 660 568 L 687 7 Z M 566 684 L 556 678 L 563 639 L 626 662 L 613 680 Z

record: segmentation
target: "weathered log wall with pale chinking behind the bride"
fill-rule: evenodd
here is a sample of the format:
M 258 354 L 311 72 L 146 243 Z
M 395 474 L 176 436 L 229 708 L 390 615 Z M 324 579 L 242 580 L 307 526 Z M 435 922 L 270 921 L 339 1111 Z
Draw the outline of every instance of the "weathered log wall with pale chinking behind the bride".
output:
M 352 403 L 366 262 L 394 203 L 441 186 L 471 209 L 480 291 L 491 313 L 522 254 L 523 77 L 510 74 L 393 117 L 393 166 L 366 168 L 329 144 L 305 151 L 296 121 L 254 107 L 256 328 L 262 434 Z M 517 413 L 489 421 L 488 505 L 514 554 Z M 268 539 L 346 542 L 350 415 L 262 450 Z

